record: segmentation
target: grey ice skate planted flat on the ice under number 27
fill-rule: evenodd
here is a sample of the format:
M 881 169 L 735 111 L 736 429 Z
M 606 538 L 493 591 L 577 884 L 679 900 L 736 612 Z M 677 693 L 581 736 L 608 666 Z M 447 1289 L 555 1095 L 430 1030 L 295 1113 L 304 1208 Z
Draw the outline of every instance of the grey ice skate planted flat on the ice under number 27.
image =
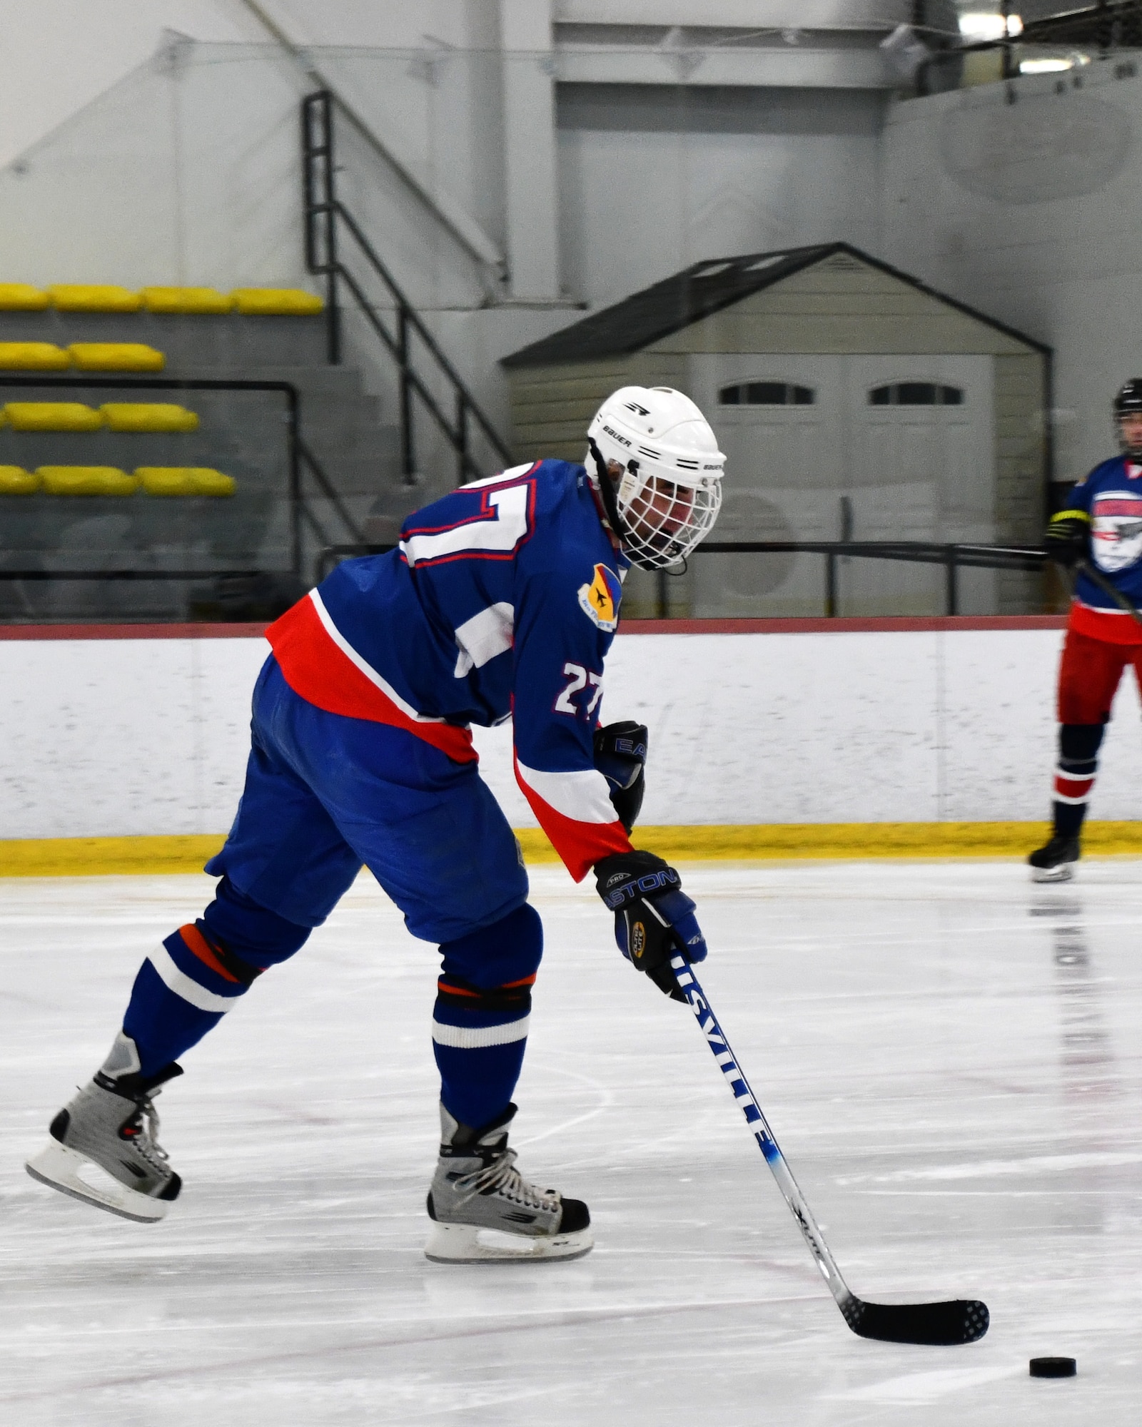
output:
M 591 1214 L 578 1199 L 537 1189 L 515 1169 L 508 1124 L 515 1106 L 491 1124 L 458 1124 L 441 1104 L 441 1146 L 428 1190 L 425 1254 L 434 1263 L 512 1263 L 581 1259 L 594 1247 Z

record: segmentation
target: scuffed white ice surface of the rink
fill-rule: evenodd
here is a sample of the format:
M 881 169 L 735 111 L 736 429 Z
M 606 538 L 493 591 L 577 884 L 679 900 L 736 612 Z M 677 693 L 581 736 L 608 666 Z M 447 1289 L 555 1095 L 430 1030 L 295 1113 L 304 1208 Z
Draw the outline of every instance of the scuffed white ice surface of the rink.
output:
M 521 1169 L 585 1199 L 575 1263 L 421 1254 L 435 955 L 361 879 L 160 1100 L 161 1224 L 23 1160 L 206 878 L 0 882 L 0 1417 L 13 1427 L 1136 1421 L 1142 862 L 695 865 L 704 982 L 852 1289 L 982 1297 L 978 1344 L 854 1337 L 687 1007 L 591 885 L 548 949 Z M 1069 1381 L 1028 1377 L 1068 1354 Z

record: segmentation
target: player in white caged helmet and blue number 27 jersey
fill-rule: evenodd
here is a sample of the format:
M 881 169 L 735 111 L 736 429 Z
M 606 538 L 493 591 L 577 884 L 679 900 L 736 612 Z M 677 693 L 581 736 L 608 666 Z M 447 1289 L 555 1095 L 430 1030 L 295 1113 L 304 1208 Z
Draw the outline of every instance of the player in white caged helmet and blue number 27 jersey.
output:
M 591 422 L 585 467 L 534 461 L 461 487 L 410 517 L 398 549 L 347 561 L 270 626 L 246 788 L 206 868 L 214 900 L 143 962 L 107 1060 L 29 1162 L 36 1179 L 161 1219 L 181 1180 L 157 1140 L 158 1087 L 364 865 L 441 955 L 425 1251 L 591 1249 L 587 1206 L 528 1183 L 507 1143 L 542 928 L 470 725 L 512 719 L 541 826 L 577 880 L 594 869 L 622 953 L 679 997 L 669 958 L 701 960 L 705 942 L 677 872 L 631 845 L 645 729 L 600 728 L 600 701 L 628 565 L 662 569 L 695 548 L 722 465 L 692 401 L 624 387 Z M 90 1163 L 110 1180 L 96 1187 Z M 500 1230 L 500 1247 L 481 1229 Z

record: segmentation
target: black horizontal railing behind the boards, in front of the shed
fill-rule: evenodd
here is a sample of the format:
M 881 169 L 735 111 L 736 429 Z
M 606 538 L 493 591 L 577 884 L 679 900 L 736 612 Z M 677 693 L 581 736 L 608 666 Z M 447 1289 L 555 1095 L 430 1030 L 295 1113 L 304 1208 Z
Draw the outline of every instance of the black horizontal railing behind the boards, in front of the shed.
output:
M 395 549 L 395 547 L 391 544 L 368 545 L 365 542 L 328 545 L 318 555 L 314 569 L 314 584 L 320 584 L 330 569 L 343 559 L 350 559 L 354 555 L 381 555 L 390 549 Z M 944 605 L 948 615 L 959 614 L 961 569 L 1022 569 L 1034 572 L 1042 569 L 1046 561 L 1044 551 L 1031 545 L 942 545 L 929 541 L 707 541 L 692 552 L 692 555 L 787 554 L 824 555 L 824 612 L 827 618 L 837 618 L 839 609 L 837 562 L 841 558 L 889 559 L 912 565 L 942 565 L 945 571 Z M 661 572 L 661 577 L 665 579 L 669 578 L 665 572 Z M 667 601 L 662 598 L 661 585 L 660 605 L 665 612 Z

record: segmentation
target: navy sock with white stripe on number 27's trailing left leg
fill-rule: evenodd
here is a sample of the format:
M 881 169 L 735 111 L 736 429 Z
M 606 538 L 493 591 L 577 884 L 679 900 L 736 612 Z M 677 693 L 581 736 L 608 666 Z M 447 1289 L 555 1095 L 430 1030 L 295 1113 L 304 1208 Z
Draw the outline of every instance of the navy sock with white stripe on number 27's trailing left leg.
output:
M 293 956 L 308 935 L 223 878 L 198 922 L 171 932 L 134 979 L 123 1033 L 136 1043 L 140 1073 L 153 1075 L 197 1045 L 267 966 Z

